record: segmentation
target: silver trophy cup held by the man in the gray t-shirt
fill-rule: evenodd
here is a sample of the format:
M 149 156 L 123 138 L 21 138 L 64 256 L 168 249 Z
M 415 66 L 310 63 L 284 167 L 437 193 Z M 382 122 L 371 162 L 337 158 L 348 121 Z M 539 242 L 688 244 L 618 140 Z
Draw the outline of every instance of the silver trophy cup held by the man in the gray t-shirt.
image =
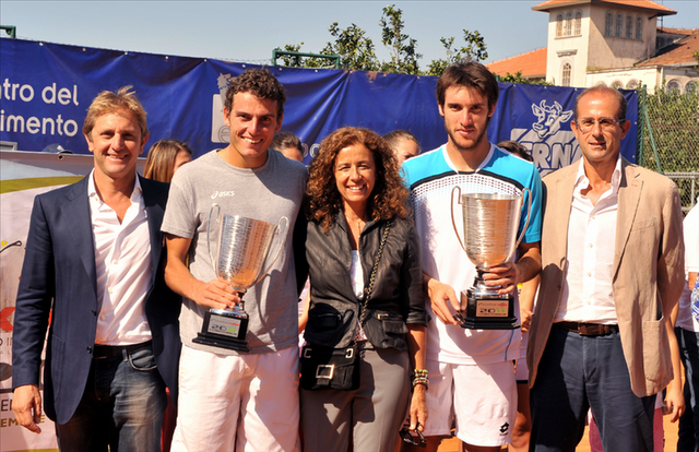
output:
M 220 225 L 215 255 L 211 249 L 214 211 L 216 212 L 215 222 Z M 221 207 L 213 204 L 209 211 L 206 241 L 209 258 L 216 276 L 227 282 L 242 298 L 247 289 L 262 279 L 279 259 L 286 241 L 287 230 L 288 218 L 285 216 L 280 218 L 279 225 L 273 225 L 239 215 L 221 215 Z M 275 238 L 277 238 L 277 250 L 274 259 L 265 266 Z M 204 314 L 202 332 L 193 342 L 249 352 L 245 340 L 248 321 L 242 300 L 233 309 L 210 309 Z

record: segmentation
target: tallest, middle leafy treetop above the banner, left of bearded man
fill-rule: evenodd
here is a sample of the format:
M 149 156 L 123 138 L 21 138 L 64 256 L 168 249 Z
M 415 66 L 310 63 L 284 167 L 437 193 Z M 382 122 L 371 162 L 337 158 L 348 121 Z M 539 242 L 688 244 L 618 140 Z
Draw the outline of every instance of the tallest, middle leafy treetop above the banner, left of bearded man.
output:
M 405 74 L 419 74 L 417 60 L 423 58 L 417 52 L 417 40 L 403 33 L 403 11 L 390 4 L 382 10 L 381 43 L 391 50 L 391 61 L 383 61 L 383 72 L 400 72 Z

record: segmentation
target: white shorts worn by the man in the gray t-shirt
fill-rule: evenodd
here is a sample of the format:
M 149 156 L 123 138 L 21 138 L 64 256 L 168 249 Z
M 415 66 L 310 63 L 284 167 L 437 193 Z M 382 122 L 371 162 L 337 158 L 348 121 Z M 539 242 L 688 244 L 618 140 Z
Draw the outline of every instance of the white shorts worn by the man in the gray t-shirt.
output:
M 298 348 L 226 356 L 186 345 L 173 452 L 300 451 Z

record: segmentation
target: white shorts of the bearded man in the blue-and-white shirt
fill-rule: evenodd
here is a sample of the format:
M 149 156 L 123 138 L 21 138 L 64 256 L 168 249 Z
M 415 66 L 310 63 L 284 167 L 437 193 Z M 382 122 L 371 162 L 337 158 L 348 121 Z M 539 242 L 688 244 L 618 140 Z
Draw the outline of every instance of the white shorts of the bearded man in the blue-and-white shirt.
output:
M 472 445 L 510 442 L 517 417 L 517 383 L 512 361 L 453 365 L 427 360 L 427 425 L 425 436 L 457 437 Z

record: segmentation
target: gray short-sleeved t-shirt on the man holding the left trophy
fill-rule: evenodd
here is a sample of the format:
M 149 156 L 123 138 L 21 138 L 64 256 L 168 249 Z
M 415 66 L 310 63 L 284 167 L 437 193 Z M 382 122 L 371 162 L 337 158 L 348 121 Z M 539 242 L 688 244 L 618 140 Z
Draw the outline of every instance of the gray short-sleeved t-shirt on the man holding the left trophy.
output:
M 212 151 L 183 165 L 175 174 L 170 187 L 162 230 L 192 240 L 189 249 L 189 270 L 200 281 L 216 278 L 206 243 L 209 213 L 215 203 L 222 214 L 241 215 L 271 224 L 288 218 L 284 248 L 270 272 L 242 297 L 250 317 L 248 347 L 250 353 L 275 352 L 298 345 L 296 273 L 292 237 L 306 187 L 306 167 L 281 153 L 269 150 L 268 159 L 259 168 L 245 169 L 227 164 L 217 151 Z M 211 250 L 216 257 L 218 224 L 212 217 Z M 275 241 L 266 265 L 274 258 Z M 201 332 L 209 308 L 183 298 L 180 313 L 182 344 L 221 355 L 238 352 L 196 344 L 192 338 Z

